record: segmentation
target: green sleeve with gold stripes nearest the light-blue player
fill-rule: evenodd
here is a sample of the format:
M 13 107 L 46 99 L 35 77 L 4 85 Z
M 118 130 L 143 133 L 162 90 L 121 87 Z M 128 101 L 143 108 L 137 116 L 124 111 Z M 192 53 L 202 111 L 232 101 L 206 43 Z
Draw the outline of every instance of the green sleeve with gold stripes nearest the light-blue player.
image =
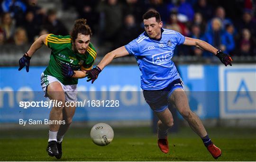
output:
M 87 48 L 87 59 L 82 65 L 85 70 L 90 70 L 92 68 L 92 65 L 96 59 L 96 56 L 97 56 L 97 52 L 94 46 L 92 45 L 92 43 L 90 43 Z

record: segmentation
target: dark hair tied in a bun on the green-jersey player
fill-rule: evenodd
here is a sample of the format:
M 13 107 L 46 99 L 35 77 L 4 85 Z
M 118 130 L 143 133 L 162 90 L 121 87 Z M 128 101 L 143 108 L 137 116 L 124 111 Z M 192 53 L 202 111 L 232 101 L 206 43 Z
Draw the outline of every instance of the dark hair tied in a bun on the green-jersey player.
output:
M 73 42 L 75 42 L 77 38 L 77 34 L 83 34 L 83 35 L 90 35 L 91 36 L 91 27 L 86 24 L 86 19 L 81 18 L 78 20 L 75 20 L 75 24 L 73 29 L 70 32 L 71 39 Z

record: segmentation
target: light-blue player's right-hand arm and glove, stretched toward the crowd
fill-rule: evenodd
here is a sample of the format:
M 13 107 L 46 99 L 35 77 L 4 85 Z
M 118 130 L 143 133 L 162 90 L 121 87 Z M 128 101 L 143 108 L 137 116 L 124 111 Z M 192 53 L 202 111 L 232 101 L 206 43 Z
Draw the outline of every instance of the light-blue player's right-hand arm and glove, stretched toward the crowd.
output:
M 212 45 L 210 45 L 205 41 L 185 37 L 185 41 L 183 44 L 193 45 L 201 50 L 209 51 L 214 55 L 216 55 L 225 66 L 228 66 L 228 65 L 232 66 L 231 61 L 233 61 L 233 59 L 229 56 L 229 54 L 223 53 L 223 51 L 214 48 Z

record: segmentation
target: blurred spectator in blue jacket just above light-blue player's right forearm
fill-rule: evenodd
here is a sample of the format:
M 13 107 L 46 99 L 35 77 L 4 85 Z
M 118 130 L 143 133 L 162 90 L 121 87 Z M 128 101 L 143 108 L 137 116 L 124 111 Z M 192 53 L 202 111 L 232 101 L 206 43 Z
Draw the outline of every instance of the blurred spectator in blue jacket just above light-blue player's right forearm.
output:
M 226 30 L 222 30 L 221 26 L 221 20 L 219 18 L 213 18 L 211 21 L 212 31 L 206 33 L 203 40 L 210 43 L 213 47 L 229 53 L 235 47 L 234 38 Z M 204 55 L 211 56 L 206 52 L 204 52 Z

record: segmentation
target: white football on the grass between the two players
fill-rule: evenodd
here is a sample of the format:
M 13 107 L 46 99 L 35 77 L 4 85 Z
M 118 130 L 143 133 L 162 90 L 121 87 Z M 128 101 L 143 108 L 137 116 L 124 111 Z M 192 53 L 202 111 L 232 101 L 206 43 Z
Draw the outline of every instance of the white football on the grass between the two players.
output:
M 91 140 L 96 145 L 109 145 L 113 138 L 114 131 L 106 123 L 98 123 L 91 128 Z

